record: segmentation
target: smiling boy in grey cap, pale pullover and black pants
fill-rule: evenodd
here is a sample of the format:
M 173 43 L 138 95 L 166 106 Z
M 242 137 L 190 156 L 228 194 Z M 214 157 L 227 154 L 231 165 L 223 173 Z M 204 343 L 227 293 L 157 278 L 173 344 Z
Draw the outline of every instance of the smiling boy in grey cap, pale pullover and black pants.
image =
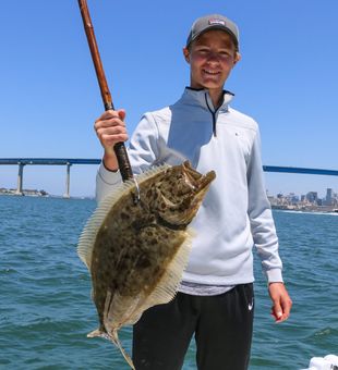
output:
M 224 90 L 240 61 L 237 25 L 218 14 L 198 18 L 183 49 L 190 87 L 174 104 L 146 113 L 129 150 L 135 173 L 189 159 L 201 173 L 216 171 L 192 226 L 197 231 L 177 297 L 152 307 L 133 329 L 137 370 L 181 369 L 192 335 L 201 370 L 249 366 L 253 325 L 255 245 L 268 280 L 276 322 L 290 313 L 282 283 L 278 239 L 266 198 L 257 124 L 229 107 Z M 123 110 L 95 123 L 105 149 L 97 176 L 100 200 L 121 182 L 112 147 L 125 141 Z

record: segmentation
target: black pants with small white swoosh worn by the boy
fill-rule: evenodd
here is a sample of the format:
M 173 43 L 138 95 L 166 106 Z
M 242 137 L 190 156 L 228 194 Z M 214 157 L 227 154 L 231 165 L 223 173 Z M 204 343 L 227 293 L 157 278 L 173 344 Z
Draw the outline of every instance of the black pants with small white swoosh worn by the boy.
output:
M 178 293 L 149 308 L 133 329 L 136 370 L 181 369 L 194 334 L 197 369 L 248 369 L 253 303 L 253 284 L 243 284 L 216 296 Z

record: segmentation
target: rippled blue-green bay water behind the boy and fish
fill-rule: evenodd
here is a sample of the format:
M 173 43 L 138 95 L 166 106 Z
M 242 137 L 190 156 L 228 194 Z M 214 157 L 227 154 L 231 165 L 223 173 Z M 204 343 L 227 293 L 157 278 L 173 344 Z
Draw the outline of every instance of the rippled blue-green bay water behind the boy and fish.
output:
M 97 328 L 90 279 L 76 254 L 90 199 L 0 196 L 0 369 L 129 369 Z M 255 258 L 255 323 L 250 370 L 303 369 L 338 355 L 338 214 L 274 211 L 290 319 L 270 318 Z M 131 329 L 120 332 L 131 353 Z M 184 370 L 196 369 L 194 343 Z M 221 369 L 220 369 L 221 370 Z

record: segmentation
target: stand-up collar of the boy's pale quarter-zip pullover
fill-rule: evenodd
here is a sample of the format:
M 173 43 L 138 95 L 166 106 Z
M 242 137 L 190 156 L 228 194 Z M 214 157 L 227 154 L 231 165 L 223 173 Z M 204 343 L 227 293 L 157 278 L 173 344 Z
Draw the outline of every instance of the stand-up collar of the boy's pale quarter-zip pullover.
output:
M 218 109 L 215 109 L 212 98 L 209 96 L 209 91 L 207 89 L 194 89 L 191 87 L 185 87 L 182 98 L 193 99 L 196 103 L 212 113 L 216 113 L 216 111 L 228 111 L 229 102 L 232 100 L 234 94 L 224 90 L 224 101 Z

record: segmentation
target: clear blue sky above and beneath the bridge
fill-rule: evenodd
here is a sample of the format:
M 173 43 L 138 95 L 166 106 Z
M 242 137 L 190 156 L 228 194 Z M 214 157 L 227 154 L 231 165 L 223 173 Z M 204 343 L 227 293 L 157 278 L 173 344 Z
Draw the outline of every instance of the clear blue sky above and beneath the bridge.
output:
M 88 0 L 116 108 L 129 133 L 189 85 L 191 24 L 221 13 L 240 28 L 242 60 L 226 88 L 259 124 L 266 165 L 338 170 L 337 0 Z M 102 102 L 76 0 L 1 1 L 0 158 L 100 158 Z M 73 165 L 71 195 L 95 193 L 96 165 Z M 0 187 L 16 187 L 16 165 Z M 62 195 L 64 166 L 27 165 L 24 188 Z M 338 193 L 338 176 L 266 173 L 269 195 Z

